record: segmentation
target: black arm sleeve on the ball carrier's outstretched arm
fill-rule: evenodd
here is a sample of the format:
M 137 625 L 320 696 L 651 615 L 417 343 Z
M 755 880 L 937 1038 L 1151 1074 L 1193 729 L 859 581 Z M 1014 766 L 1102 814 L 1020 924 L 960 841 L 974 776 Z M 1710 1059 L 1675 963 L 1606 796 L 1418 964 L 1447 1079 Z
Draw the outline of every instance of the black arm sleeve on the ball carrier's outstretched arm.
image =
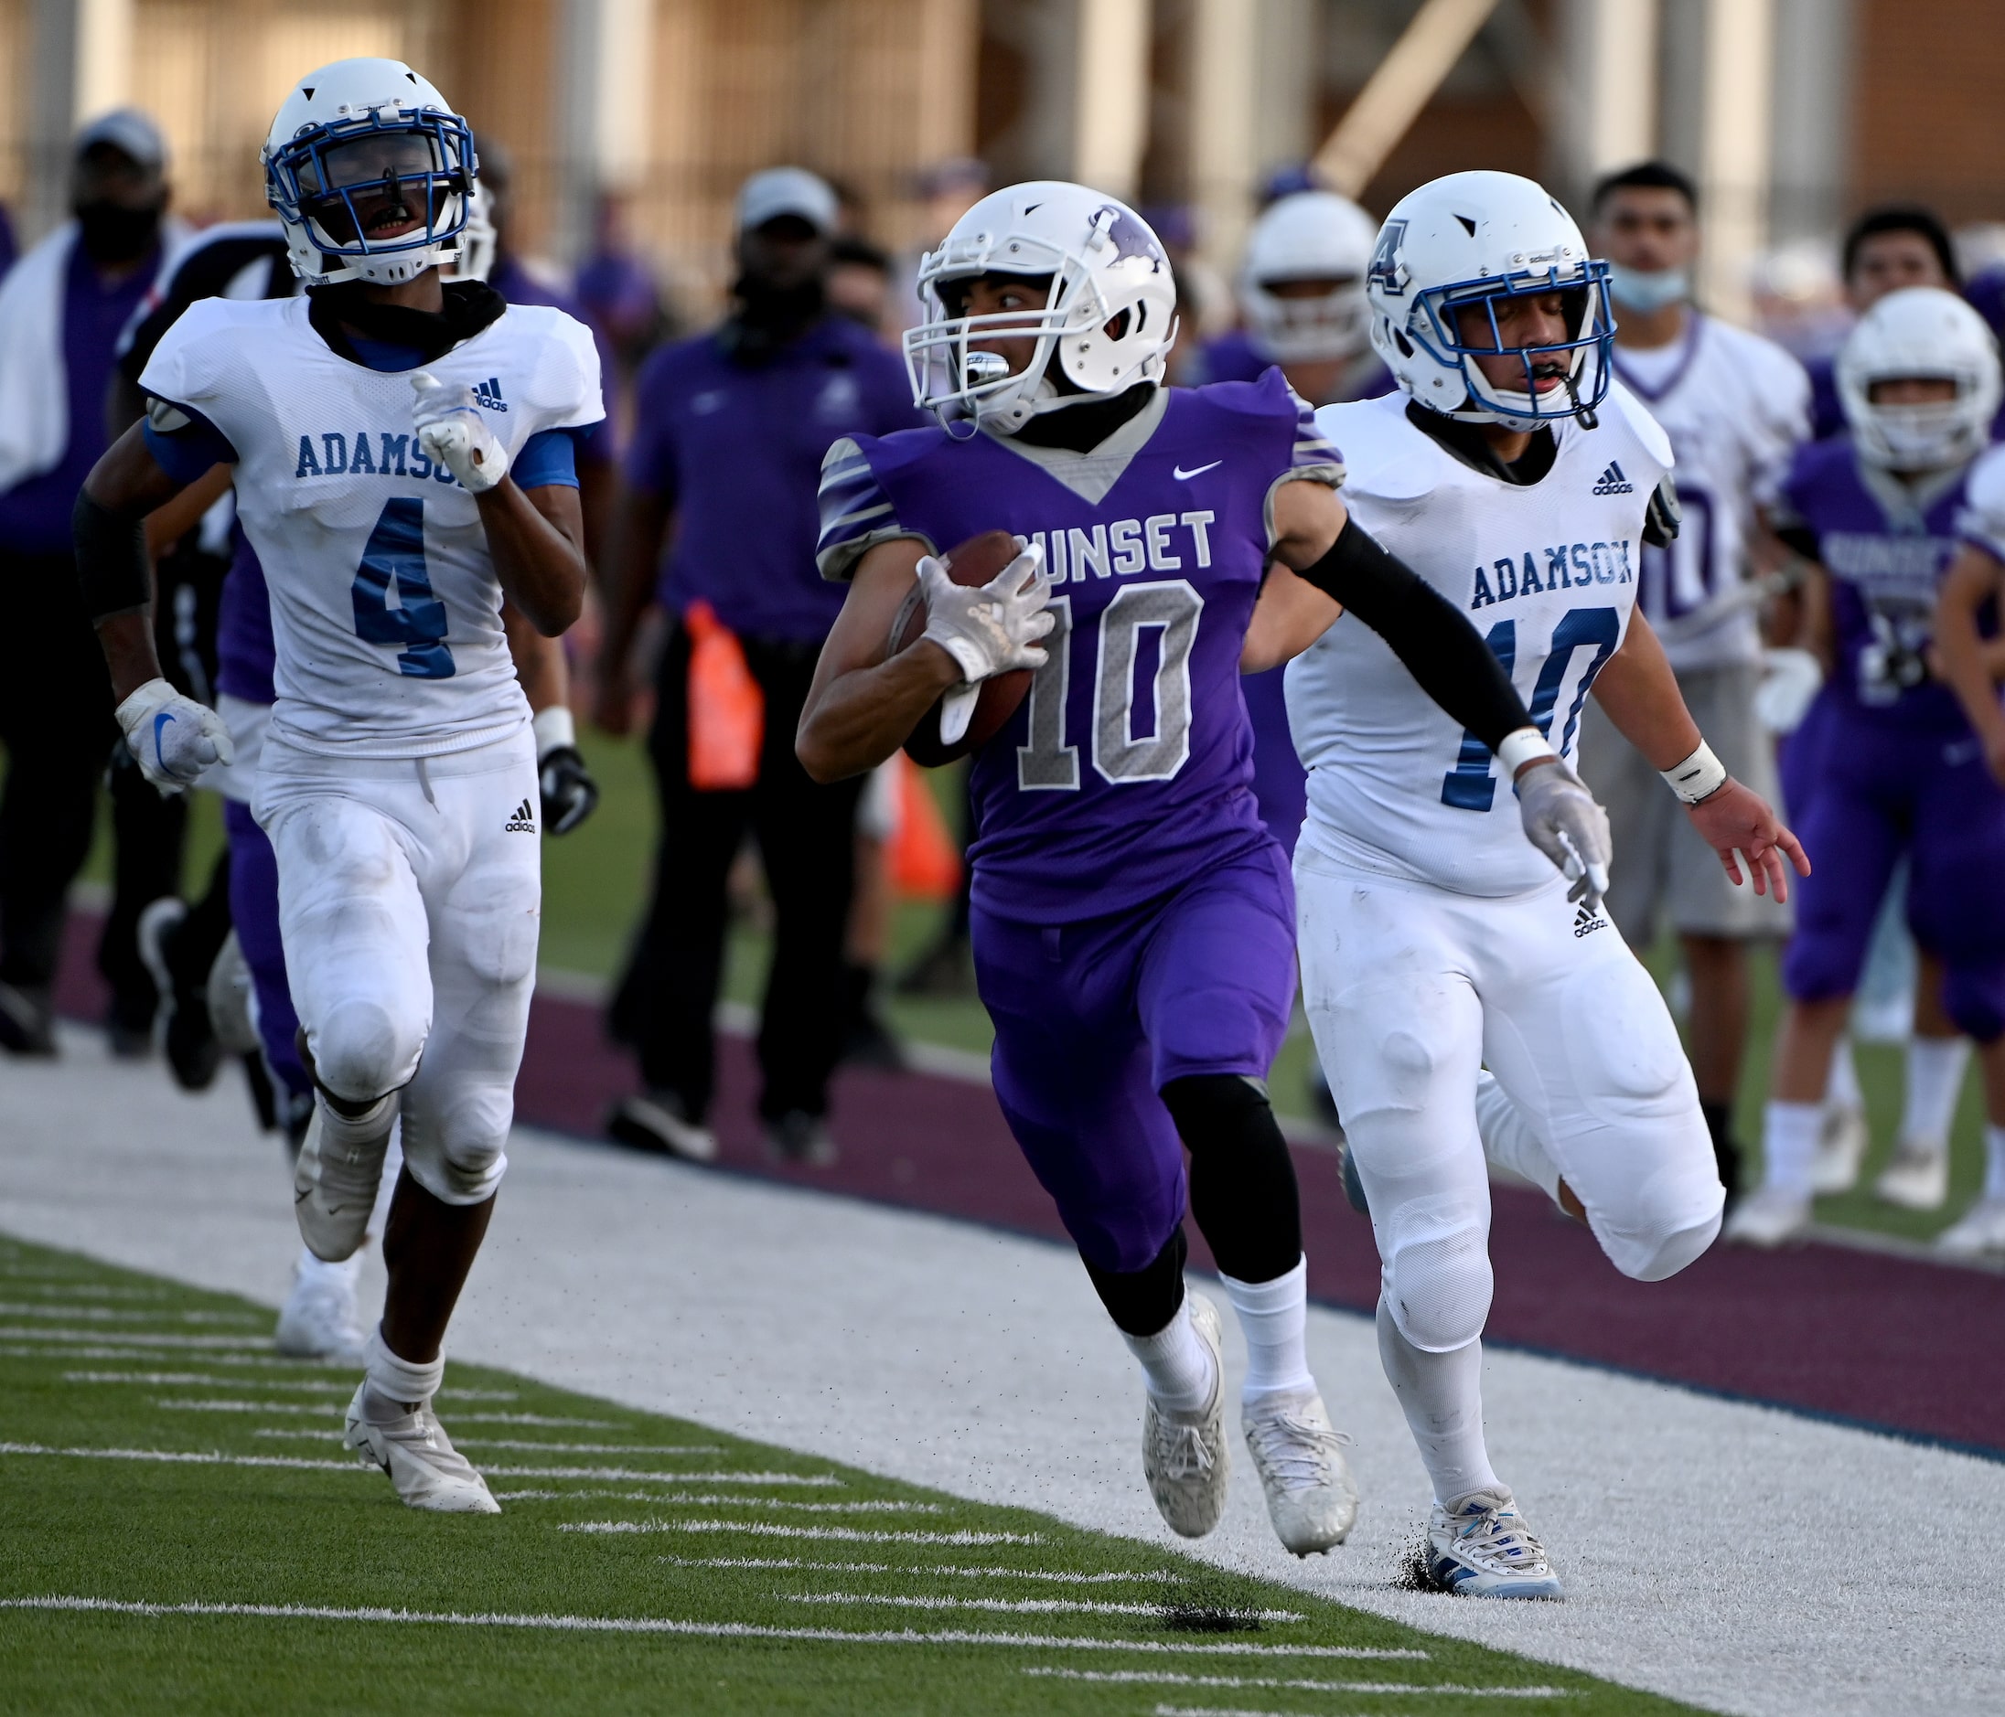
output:
M 1420 689 L 1492 751 L 1530 727 L 1524 699 L 1476 627 L 1410 565 L 1345 519 L 1329 553 L 1297 573 L 1335 597 L 1406 663 Z

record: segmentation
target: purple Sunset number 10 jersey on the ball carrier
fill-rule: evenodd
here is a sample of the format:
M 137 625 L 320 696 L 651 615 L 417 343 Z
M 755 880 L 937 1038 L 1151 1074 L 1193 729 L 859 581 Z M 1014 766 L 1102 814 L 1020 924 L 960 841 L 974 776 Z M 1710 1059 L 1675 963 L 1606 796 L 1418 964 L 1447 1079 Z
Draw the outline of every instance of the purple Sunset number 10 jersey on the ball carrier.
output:
M 1267 559 L 1267 497 L 1341 461 L 1277 371 L 1163 389 L 1093 453 L 940 429 L 838 441 L 820 565 L 980 531 L 1045 545 L 1051 661 L 974 757 L 972 898 L 1075 924 L 1265 845 L 1239 649 Z

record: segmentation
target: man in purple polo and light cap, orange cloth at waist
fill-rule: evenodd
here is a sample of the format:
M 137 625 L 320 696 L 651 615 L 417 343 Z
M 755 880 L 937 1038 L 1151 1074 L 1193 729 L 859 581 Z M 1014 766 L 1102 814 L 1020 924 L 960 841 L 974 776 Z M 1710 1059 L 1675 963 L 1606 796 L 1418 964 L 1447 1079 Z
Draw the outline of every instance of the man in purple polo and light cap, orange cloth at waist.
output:
M 712 1010 L 724 958 L 726 878 L 750 827 L 776 932 L 758 1036 L 768 1148 L 828 1162 L 828 1078 L 848 1026 L 844 928 L 854 880 L 854 781 L 822 787 L 794 757 L 794 721 L 842 593 L 814 571 L 814 485 L 844 435 L 918 421 L 898 357 L 828 309 L 824 270 L 836 196 L 798 166 L 738 192 L 734 309 L 722 327 L 658 351 L 636 383 L 620 559 L 606 595 L 599 725 L 632 723 L 642 617 L 674 619 L 656 683 L 650 755 L 662 793 L 654 902 L 612 1010 L 640 1052 L 646 1090 L 610 1130 L 648 1150 L 716 1156 L 708 1126 Z M 674 523 L 674 549 L 658 575 Z M 764 727 L 746 785 L 690 779 L 692 629 L 718 625 L 758 681 Z M 706 705 L 704 717 L 718 713 Z

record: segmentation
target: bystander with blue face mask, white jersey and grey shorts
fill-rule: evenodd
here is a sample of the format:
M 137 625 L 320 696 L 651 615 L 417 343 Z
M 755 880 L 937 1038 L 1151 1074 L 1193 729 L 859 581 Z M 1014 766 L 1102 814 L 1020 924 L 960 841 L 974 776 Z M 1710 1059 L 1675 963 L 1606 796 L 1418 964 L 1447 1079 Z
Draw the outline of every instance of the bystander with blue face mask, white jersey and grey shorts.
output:
M 1636 605 L 1720 761 L 1772 801 L 1774 747 L 1754 715 L 1762 651 L 1746 561 L 1760 543 L 1758 505 L 1809 433 L 1809 381 L 1780 347 L 1692 303 L 1698 196 L 1678 168 L 1652 160 L 1604 178 L 1592 214 L 1616 307 L 1614 373 L 1670 437 L 1684 513 L 1676 541 L 1642 549 Z M 1622 481 L 1612 469 L 1602 477 L 1608 489 Z M 1662 920 L 1678 934 L 1692 984 L 1692 1074 L 1732 1196 L 1746 946 L 1786 936 L 1788 906 L 1726 882 L 1712 847 L 1664 799 L 1656 769 L 1598 705 L 1582 723 L 1582 777 L 1614 827 L 1608 914 L 1638 950 L 1656 942 Z

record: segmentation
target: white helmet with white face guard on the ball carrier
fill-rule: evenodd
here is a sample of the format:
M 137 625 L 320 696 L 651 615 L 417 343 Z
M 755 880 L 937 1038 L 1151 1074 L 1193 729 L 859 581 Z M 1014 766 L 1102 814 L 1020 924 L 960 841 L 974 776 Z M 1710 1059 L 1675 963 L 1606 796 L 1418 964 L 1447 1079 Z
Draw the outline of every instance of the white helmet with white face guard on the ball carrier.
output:
M 978 274 L 1051 276 L 1037 311 L 966 315 Z M 924 321 L 904 335 L 912 403 L 944 425 L 948 413 L 1013 435 L 1043 411 L 1085 395 L 1161 383 L 1177 339 L 1177 282 L 1149 224 L 1125 202 L 1063 180 L 994 190 L 962 214 L 918 264 Z M 1031 363 L 1009 375 L 978 343 L 1037 341 Z M 1059 371 L 1079 393 L 1061 393 Z

